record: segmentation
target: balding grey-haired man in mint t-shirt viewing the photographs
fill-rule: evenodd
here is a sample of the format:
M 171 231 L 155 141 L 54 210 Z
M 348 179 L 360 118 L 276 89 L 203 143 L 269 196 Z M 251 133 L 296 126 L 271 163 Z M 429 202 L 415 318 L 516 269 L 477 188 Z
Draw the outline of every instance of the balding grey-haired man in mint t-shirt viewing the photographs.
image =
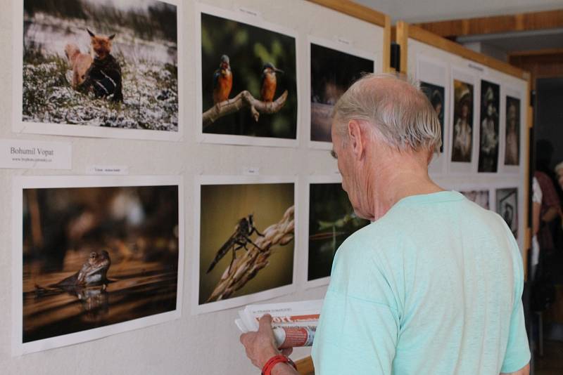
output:
M 342 186 L 373 223 L 336 253 L 315 373 L 528 374 L 517 243 L 496 213 L 429 178 L 441 138 L 424 94 L 370 74 L 336 104 L 331 131 Z M 270 324 L 241 336 L 248 357 L 266 374 L 297 374 Z

